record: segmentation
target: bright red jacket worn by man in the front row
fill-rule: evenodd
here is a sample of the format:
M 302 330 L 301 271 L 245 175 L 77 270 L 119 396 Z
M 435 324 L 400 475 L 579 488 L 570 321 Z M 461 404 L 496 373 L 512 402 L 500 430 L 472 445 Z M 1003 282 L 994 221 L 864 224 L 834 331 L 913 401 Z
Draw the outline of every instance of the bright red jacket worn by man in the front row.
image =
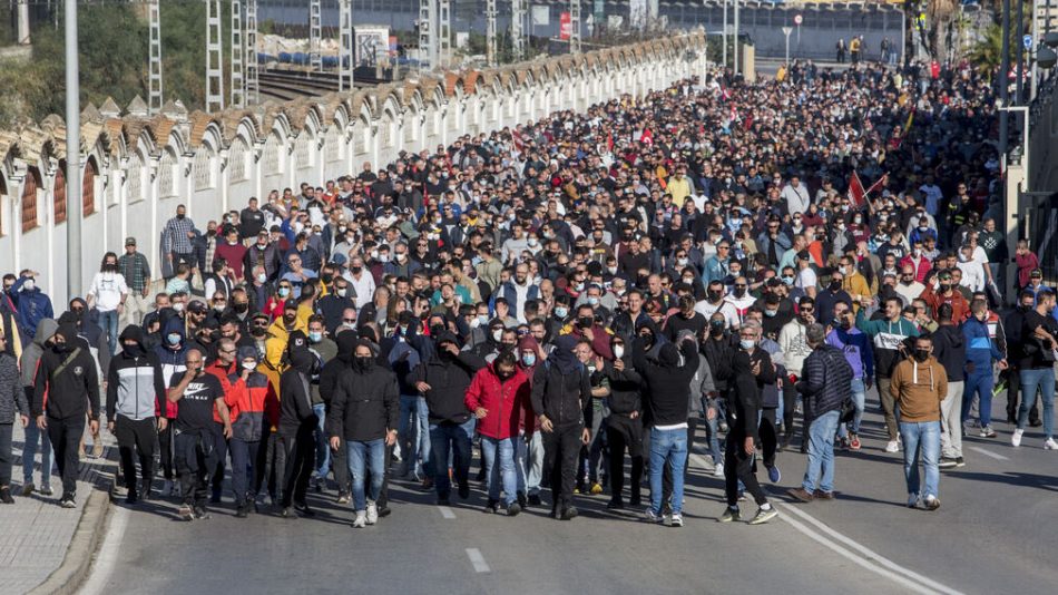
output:
M 532 428 L 532 403 L 529 400 L 529 377 L 517 365 L 515 375 L 501 381 L 496 373 L 496 363 L 490 363 L 474 374 L 463 400 L 467 409 L 479 407 L 488 414 L 478 420 L 481 436 L 502 440 L 518 436 L 522 427 Z M 532 430 L 527 429 L 531 435 Z

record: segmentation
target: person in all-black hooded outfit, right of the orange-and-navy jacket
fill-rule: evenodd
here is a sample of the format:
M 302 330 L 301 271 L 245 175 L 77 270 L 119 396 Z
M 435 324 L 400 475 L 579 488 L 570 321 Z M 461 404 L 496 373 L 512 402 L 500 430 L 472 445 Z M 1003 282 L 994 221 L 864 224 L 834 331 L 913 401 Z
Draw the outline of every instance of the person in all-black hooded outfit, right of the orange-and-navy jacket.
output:
M 320 373 L 320 360 L 308 350 L 307 339 L 301 331 L 290 336 L 290 368 L 280 377 L 280 460 L 276 461 L 276 478 L 283 477 L 281 516 L 291 517 L 293 510 L 312 517 L 305 495 L 315 461 L 316 413 L 312 409 L 313 377 Z M 293 510 L 292 510 L 293 507 Z

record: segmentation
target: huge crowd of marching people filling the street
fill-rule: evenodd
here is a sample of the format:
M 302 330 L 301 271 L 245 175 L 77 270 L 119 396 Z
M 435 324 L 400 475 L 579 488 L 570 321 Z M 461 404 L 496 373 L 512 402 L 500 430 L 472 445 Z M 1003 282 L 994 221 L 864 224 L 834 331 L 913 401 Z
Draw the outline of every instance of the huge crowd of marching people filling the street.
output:
M 748 492 L 760 524 L 777 511 L 757 462 L 778 482 L 800 448 L 790 496 L 834 498 L 874 388 L 876 447 L 903 450 L 908 505 L 935 509 L 964 428 L 997 436 L 997 378 L 1012 443 L 1041 419 L 1058 448 L 1055 294 L 996 228 L 992 114 L 966 65 L 718 70 L 219 221 L 180 206 L 161 271 L 129 237 L 58 318 L 41 275 L 3 276 L 0 500 L 13 422 L 21 494 L 51 494 L 53 459 L 76 507 L 105 419 L 127 501 L 178 498 L 187 520 L 225 498 L 313 516 L 315 491 L 364 527 L 391 479 L 467 499 L 479 452 L 487 513 L 549 489 L 571 519 L 575 495 L 608 491 L 682 526 L 704 435 L 719 519 Z

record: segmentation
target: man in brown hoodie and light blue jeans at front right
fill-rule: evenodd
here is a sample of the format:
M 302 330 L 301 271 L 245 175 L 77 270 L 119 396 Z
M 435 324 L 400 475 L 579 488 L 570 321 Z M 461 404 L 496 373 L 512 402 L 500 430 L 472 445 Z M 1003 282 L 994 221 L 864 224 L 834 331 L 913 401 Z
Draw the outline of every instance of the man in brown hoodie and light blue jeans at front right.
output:
M 940 508 L 941 403 L 948 398 L 948 373 L 933 357 L 930 335 L 917 336 L 912 357 L 893 369 L 892 392 L 900 411 L 908 508 L 915 508 L 921 500 L 928 510 L 937 510 Z M 924 484 L 919 480 L 920 460 L 925 469 Z

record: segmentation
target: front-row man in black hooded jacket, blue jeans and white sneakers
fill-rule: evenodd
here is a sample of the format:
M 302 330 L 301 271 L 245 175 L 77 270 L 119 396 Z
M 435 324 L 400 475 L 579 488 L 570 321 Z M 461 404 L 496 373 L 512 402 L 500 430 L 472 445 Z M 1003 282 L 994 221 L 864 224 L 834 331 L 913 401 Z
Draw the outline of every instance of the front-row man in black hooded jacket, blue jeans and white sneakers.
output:
M 336 450 L 345 440 L 356 528 L 374 525 L 379 519 L 385 450 L 396 443 L 396 377 L 379 365 L 375 358 L 370 341 L 356 342 L 353 365 L 341 372 L 327 412 L 331 448 Z M 365 490 L 365 469 L 371 472 L 370 491 Z

